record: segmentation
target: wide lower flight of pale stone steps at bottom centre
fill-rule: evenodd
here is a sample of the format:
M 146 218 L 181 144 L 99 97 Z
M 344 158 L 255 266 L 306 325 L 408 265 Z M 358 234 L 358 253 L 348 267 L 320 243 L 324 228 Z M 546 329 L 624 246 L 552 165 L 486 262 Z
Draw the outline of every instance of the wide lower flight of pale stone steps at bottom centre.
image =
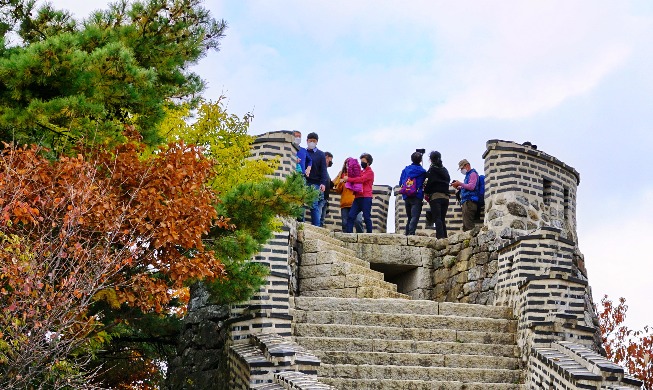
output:
M 526 389 L 508 308 L 296 297 L 295 341 L 337 389 Z

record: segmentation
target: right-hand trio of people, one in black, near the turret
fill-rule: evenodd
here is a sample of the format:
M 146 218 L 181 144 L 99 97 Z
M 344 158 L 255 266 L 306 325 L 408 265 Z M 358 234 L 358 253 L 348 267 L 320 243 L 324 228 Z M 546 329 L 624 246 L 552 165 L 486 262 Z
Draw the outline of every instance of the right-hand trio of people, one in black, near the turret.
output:
M 427 222 L 435 225 L 436 238 L 447 237 L 447 224 L 445 222 L 449 210 L 449 186 L 458 191 L 456 197 L 462 205 L 463 230 L 474 228 L 474 220 L 481 200 L 479 192 L 479 175 L 472 169 L 466 159 L 458 163 L 458 170 L 465 176 L 461 182 L 450 181 L 449 171 L 442 165 L 440 152 L 432 151 L 429 154 L 430 166 L 428 171 L 422 167 L 424 150 L 416 151 L 411 156 L 411 164 L 401 171 L 399 178 L 399 192 L 406 205 L 406 235 L 414 235 L 417 229 L 422 205 L 426 200 L 431 208 L 430 218 L 427 213 Z

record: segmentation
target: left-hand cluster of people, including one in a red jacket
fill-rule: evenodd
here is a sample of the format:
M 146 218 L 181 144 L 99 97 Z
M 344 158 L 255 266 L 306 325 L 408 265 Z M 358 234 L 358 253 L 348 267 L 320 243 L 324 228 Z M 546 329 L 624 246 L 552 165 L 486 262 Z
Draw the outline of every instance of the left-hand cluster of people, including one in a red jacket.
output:
M 306 184 L 320 191 L 319 198 L 311 205 L 311 224 L 323 226 L 326 217 L 331 189 L 340 196 L 340 216 L 343 231 L 372 233 L 372 189 L 374 187 L 373 158 L 363 153 L 358 160 L 345 159 L 342 170 L 331 181 L 327 168 L 333 165 L 333 154 L 317 148 L 319 136 L 309 133 L 306 136 L 306 149 L 301 147 L 302 133 L 294 132 L 298 146 L 296 170 L 306 176 Z

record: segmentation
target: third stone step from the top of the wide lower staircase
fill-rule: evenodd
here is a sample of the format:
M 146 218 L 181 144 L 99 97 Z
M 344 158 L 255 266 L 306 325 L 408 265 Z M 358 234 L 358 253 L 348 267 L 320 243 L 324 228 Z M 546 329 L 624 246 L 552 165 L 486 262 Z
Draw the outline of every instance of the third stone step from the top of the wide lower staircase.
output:
M 473 332 L 453 329 L 392 328 L 372 325 L 293 324 L 293 334 L 299 337 L 333 337 L 351 339 L 448 341 L 458 343 L 514 345 L 515 334 L 506 332 Z M 312 347 L 306 346 L 311 349 Z

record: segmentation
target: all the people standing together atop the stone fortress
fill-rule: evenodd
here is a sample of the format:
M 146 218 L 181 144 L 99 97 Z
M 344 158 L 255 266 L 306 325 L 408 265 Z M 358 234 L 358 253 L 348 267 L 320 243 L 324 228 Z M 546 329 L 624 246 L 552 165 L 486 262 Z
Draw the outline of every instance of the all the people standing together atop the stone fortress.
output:
M 306 177 L 306 184 L 319 190 L 319 198 L 311 205 L 311 223 L 323 226 L 326 217 L 329 193 L 333 189 L 340 194 L 340 218 L 343 231 L 357 233 L 363 231 L 372 233 L 372 196 L 374 187 L 373 158 L 369 153 L 363 153 L 359 159 L 348 157 L 342 169 L 332 181 L 327 168 L 333 165 L 333 154 L 322 152 L 317 148 L 319 136 L 309 133 L 306 136 L 306 149 L 301 147 L 302 134 L 294 131 L 294 141 L 298 146 L 296 170 Z M 463 230 L 474 228 L 474 219 L 479 208 L 482 195 L 478 189 L 479 175 L 466 159 L 458 163 L 458 170 L 465 176 L 464 180 L 451 181 L 449 171 L 442 165 L 440 152 L 429 154 L 430 166 L 426 170 L 422 166 L 424 149 L 414 152 L 411 164 L 401 171 L 399 178 L 400 193 L 405 202 L 406 235 L 414 235 L 422 205 L 426 200 L 430 206 L 427 222 L 435 225 L 436 238 L 447 237 L 445 222 L 449 210 L 449 187 L 453 186 L 457 198 L 462 205 Z M 430 214 L 430 218 L 429 215 Z M 301 218 L 303 221 L 303 216 Z M 365 228 L 363 228 L 363 223 Z

